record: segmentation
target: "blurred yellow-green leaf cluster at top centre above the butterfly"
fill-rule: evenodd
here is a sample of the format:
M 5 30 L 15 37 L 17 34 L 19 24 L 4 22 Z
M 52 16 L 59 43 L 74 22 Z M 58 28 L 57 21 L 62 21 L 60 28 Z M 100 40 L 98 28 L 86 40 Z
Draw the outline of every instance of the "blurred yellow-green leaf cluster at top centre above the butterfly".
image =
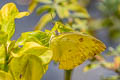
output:
M 32 12 L 39 3 L 43 5 L 37 8 L 37 14 L 44 15 L 40 18 L 35 30 L 43 29 L 48 22 L 53 22 L 56 18 L 73 29 L 84 31 L 87 28 L 90 16 L 77 0 L 32 0 L 28 8 L 29 11 Z

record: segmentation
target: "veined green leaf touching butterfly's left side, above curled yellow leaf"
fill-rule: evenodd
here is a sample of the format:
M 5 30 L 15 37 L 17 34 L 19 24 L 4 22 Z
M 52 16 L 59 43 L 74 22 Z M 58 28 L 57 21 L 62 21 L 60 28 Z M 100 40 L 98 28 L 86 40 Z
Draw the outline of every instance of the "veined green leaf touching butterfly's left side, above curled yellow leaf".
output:
M 49 46 L 51 34 L 42 31 L 31 31 L 22 33 L 16 41 L 16 46 L 24 45 L 25 42 L 34 41 L 44 46 Z

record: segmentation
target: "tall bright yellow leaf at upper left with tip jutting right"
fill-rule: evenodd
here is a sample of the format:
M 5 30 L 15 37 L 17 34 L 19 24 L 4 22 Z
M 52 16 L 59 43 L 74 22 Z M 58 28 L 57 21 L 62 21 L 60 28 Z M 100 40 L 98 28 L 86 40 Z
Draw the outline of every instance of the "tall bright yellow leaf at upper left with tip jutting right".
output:
M 15 18 L 28 16 L 28 12 L 24 13 L 27 13 L 27 15 L 19 13 L 19 10 L 14 3 L 7 3 L 1 8 L 1 30 L 8 34 L 8 40 L 15 32 Z

